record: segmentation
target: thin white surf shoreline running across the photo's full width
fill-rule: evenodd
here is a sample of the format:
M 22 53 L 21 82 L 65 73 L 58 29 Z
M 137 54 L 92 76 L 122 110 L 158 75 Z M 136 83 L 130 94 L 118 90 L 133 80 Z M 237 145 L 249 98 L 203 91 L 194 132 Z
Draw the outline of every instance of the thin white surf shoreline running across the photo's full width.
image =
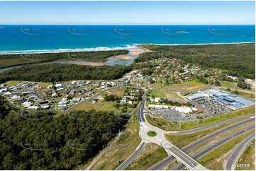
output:
M 160 45 L 160 46 L 191 46 L 191 45 L 242 45 L 255 44 L 255 42 L 227 42 L 227 43 L 195 43 L 195 44 L 157 44 L 157 43 L 140 43 L 133 45 L 126 45 L 126 47 L 96 47 L 96 48 L 74 48 L 74 49 L 30 49 L 30 50 L 16 50 L 16 51 L 0 51 L 2 54 L 43 54 L 43 53 L 62 53 L 62 52 L 96 52 L 96 51 L 111 51 L 122 49 L 137 49 L 140 45 Z

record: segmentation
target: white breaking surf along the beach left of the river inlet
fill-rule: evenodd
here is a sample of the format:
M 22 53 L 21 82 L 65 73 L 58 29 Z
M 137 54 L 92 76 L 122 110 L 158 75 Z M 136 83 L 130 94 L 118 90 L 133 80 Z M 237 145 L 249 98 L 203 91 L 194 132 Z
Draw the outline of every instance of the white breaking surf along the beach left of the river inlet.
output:
M 134 49 L 136 45 L 127 45 L 126 47 L 96 47 L 96 48 L 76 48 L 76 49 L 40 49 L 40 50 L 18 50 L 18 51 L 0 51 L 0 54 L 43 54 L 43 53 L 61 53 L 61 52 L 94 52 L 111 51 L 121 49 Z

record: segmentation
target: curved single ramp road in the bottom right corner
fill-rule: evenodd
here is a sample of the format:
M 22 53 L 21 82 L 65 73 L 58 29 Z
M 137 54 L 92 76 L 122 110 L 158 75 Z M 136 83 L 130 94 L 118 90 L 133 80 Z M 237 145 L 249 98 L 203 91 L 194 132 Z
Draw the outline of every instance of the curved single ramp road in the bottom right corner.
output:
M 234 170 L 234 166 L 238 163 L 238 159 L 243 152 L 250 146 L 250 143 L 255 139 L 255 133 L 250 134 L 235 146 L 227 159 L 226 170 Z

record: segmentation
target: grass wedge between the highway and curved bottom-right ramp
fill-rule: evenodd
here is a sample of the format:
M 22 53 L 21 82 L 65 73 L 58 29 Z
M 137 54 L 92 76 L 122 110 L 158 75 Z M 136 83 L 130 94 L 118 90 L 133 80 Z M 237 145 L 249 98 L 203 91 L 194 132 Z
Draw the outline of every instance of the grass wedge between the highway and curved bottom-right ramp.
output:
M 241 139 L 245 138 L 249 134 L 252 134 L 255 130 L 248 131 L 247 133 L 234 138 L 228 143 L 225 143 L 223 146 L 216 148 L 216 150 L 211 151 L 207 155 L 204 155 L 203 158 L 199 159 L 199 163 L 204 167 L 208 168 L 209 170 L 225 170 L 223 163 L 228 158 L 229 153 L 232 151 L 232 148 L 238 144 Z

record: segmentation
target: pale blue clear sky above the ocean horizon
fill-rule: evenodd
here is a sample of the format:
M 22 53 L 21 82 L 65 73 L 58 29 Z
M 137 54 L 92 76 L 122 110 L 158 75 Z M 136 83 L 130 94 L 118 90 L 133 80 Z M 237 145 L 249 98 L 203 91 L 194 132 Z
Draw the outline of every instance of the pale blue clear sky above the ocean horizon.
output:
M 0 1 L 0 24 L 255 25 L 255 1 Z

